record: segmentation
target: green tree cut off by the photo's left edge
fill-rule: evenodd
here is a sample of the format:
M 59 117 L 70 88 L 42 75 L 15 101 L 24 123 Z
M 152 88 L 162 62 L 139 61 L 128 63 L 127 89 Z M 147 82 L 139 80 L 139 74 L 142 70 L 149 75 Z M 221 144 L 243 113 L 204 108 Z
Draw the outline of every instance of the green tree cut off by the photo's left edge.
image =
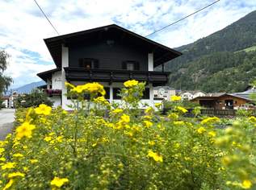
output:
M 10 84 L 12 83 L 12 79 L 10 76 L 5 76 L 3 72 L 7 68 L 7 59 L 9 55 L 5 51 L 0 51 L 0 97 L 2 93 L 5 93 Z

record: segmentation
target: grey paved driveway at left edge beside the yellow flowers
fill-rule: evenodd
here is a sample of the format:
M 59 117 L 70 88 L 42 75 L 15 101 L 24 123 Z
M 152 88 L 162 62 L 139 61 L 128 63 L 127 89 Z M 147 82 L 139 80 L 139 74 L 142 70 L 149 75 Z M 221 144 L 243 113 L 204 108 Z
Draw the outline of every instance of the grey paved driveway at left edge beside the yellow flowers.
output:
M 14 121 L 15 109 L 0 110 L 0 140 L 4 140 L 6 138 L 6 134 L 11 132 Z

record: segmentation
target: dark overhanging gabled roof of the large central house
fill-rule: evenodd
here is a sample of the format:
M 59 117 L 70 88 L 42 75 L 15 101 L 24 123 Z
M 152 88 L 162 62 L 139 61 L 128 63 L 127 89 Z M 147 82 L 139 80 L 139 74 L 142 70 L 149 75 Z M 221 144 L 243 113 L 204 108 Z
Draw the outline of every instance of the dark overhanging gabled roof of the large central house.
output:
M 58 68 L 61 67 L 61 46 L 69 43 L 81 42 L 86 39 L 99 39 L 103 35 L 119 36 L 122 40 L 127 40 L 129 43 L 134 43 L 143 49 L 153 52 L 154 67 L 160 64 L 164 64 L 169 60 L 172 60 L 182 53 L 175 51 L 170 47 L 166 47 L 160 43 L 157 43 L 151 39 L 147 39 L 141 35 L 137 35 L 132 31 L 128 31 L 124 27 L 120 27 L 116 24 L 107 25 L 104 27 L 96 27 L 86 31 L 78 31 L 67 35 L 59 35 L 56 37 L 44 39 L 44 43 L 48 47 L 52 59 Z

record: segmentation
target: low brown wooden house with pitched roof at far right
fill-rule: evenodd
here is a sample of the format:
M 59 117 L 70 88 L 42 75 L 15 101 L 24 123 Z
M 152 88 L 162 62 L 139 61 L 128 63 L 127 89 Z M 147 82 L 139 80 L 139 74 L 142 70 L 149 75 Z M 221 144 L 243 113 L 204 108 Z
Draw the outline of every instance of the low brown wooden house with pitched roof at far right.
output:
M 195 97 L 191 101 L 211 109 L 239 109 L 253 101 L 232 93 L 208 93 L 204 97 Z

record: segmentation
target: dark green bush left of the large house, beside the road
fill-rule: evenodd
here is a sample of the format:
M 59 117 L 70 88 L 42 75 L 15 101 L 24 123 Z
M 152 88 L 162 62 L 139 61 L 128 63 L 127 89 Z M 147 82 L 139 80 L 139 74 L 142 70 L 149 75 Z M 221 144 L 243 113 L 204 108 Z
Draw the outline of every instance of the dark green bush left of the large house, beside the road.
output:
M 37 107 L 40 104 L 52 106 L 52 101 L 48 99 L 46 93 L 40 91 L 39 89 L 34 89 L 28 94 L 19 94 L 15 100 L 15 105 L 17 108 Z

